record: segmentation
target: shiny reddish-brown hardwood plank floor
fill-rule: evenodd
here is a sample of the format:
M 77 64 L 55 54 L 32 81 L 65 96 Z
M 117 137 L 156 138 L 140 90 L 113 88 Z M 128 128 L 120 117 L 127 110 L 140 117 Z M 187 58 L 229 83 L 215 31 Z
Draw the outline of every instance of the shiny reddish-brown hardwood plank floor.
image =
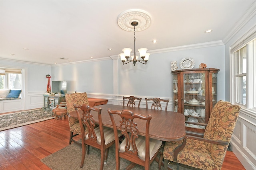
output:
M 40 160 L 68 146 L 69 135 L 68 119 L 50 119 L 0 131 L 0 170 L 50 170 Z M 245 168 L 233 152 L 228 151 L 222 170 Z

